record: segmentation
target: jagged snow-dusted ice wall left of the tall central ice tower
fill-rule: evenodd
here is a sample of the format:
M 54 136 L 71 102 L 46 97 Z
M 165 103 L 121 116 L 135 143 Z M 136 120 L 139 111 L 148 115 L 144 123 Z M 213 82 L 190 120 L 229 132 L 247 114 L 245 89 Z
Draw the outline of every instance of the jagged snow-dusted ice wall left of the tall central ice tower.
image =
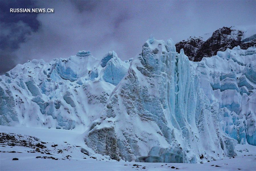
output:
M 1 76 L 1 125 L 86 129 L 115 88 L 90 74 L 99 65 L 88 51 L 50 63 L 32 60 L 17 65 Z

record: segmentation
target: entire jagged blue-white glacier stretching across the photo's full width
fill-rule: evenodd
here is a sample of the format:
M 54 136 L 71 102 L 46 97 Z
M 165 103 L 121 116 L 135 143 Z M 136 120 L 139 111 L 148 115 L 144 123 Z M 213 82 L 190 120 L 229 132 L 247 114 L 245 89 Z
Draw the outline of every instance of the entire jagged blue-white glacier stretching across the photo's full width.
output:
M 256 145 L 256 47 L 191 62 L 172 39 L 114 51 L 31 60 L 0 76 L 0 125 L 84 130 L 111 159 L 203 163 Z

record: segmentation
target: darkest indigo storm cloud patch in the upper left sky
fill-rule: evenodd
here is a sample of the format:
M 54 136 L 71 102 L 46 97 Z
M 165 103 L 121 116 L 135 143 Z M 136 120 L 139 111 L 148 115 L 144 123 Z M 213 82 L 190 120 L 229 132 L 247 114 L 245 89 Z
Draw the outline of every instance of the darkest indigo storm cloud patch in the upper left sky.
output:
M 26 41 L 31 32 L 36 31 L 39 22 L 37 14 L 10 13 L 10 8 L 33 8 L 32 1 L 0 1 L 0 74 L 15 67 L 20 60 L 15 51 Z M 25 62 L 25 61 L 24 61 Z

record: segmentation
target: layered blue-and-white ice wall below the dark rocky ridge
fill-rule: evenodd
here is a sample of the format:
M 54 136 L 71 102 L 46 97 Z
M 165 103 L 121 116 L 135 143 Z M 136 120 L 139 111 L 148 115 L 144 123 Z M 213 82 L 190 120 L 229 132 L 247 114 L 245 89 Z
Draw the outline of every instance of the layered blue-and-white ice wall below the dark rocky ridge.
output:
M 239 46 L 194 63 L 200 87 L 219 103 L 222 130 L 241 144 L 256 145 L 255 63 L 256 48 Z

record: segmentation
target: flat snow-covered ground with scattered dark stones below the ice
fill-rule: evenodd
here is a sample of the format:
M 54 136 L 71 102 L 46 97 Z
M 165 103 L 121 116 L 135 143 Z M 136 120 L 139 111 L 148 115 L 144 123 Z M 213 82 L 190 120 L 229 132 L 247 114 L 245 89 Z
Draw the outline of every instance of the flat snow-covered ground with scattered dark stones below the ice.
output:
M 249 144 L 237 144 L 234 158 L 203 164 L 117 162 L 90 151 L 80 136 L 83 131 L 7 126 L 0 130 L 0 170 L 256 170 L 256 146 Z

